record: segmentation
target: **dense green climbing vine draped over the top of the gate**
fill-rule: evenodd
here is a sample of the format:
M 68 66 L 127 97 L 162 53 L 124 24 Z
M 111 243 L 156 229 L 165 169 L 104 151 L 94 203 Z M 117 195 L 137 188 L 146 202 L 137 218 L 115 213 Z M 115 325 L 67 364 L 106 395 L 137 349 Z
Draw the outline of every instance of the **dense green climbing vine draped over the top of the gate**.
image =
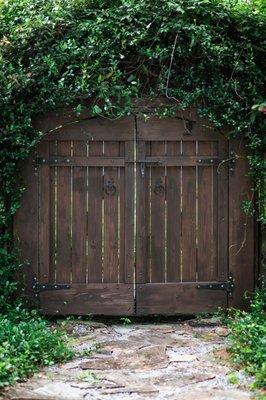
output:
M 248 139 L 263 197 L 263 4 L 0 0 L 0 295 L 17 263 L 8 227 L 19 207 L 20 163 L 42 135 L 32 126 L 40 112 L 74 106 L 79 115 L 89 104 L 92 115 L 118 118 L 143 97 L 172 99 L 161 115 L 193 104 L 216 128 Z M 243 208 L 253 212 L 248 199 Z

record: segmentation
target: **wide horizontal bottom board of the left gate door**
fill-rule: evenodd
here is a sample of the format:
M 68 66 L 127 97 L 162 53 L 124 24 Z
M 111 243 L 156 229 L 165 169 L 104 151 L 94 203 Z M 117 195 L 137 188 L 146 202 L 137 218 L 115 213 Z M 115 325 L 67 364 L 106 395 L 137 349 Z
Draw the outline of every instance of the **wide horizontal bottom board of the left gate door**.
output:
M 70 289 L 40 293 L 48 315 L 133 315 L 134 286 L 130 284 L 72 284 Z

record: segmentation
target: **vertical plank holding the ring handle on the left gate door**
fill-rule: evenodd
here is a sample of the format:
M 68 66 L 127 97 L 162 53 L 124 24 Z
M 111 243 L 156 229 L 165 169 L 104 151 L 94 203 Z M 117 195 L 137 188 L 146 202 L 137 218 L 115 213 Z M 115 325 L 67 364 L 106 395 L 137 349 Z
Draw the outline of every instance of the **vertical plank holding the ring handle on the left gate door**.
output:
M 119 156 L 119 142 L 104 143 L 105 156 Z M 108 193 L 107 186 L 114 186 Z M 118 192 L 119 180 L 116 167 L 104 169 L 104 259 L 103 281 L 118 282 Z

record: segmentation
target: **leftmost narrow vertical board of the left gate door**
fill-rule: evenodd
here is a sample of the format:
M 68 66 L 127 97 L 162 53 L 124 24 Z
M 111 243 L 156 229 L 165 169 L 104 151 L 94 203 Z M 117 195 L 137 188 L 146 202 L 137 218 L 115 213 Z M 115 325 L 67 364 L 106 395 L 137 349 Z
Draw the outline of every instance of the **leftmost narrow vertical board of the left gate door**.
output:
M 49 143 L 38 146 L 40 157 L 49 156 Z M 39 167 L 39 276 L 40 282 L 50 281 L 50 168 Z

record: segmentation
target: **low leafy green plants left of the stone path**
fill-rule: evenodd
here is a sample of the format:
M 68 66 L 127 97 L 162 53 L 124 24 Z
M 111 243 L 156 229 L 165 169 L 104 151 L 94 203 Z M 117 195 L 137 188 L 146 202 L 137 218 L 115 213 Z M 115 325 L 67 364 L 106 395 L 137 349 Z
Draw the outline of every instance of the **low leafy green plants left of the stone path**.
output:
M 0 388 L 72 356 L 66 335 L 51 329 L 36 311 L 18 307 L 0 315 Z

